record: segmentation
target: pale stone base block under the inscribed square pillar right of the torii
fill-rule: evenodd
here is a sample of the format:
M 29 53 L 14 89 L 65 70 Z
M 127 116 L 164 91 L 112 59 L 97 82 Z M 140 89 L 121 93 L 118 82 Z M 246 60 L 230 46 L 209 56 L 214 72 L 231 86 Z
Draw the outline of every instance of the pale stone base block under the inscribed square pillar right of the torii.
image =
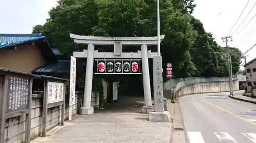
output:
M 152 122 L 170 122 L 170 113 L 168 111 L 164 112 L 150 112 L 148 114 L 148 121 Z

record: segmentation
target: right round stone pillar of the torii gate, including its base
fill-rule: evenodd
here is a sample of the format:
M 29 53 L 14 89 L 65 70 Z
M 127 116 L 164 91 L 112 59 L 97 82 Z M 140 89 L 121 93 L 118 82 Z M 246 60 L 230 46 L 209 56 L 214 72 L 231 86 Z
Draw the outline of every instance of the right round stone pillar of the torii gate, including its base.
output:
M 154 111 L 151 99 L 151 88 L 150 88 L 150 69 L 148 68 L 148 56 L 147 56 L 147 45 L 141 45 L 141 56 L 142 56 L 142 75 L 143 75 L 143 89 L 144 89 L 144 101 L 145 105 L 142 107 L 142 113 L 148 113 Z

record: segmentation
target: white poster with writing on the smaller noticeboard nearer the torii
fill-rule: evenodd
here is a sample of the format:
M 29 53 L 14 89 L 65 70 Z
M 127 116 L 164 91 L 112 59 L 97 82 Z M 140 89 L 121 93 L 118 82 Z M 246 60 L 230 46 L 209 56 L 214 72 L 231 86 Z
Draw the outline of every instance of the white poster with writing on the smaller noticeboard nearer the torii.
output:
M 48 82 L 47 104 L 64 100 L 64 83 Z

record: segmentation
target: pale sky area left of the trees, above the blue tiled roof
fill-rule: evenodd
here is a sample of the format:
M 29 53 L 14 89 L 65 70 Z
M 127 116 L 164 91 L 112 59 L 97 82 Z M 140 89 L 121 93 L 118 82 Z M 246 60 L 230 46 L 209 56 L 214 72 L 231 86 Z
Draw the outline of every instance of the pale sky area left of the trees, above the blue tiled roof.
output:
M 32 27 L 44 24 L 55 0 L 0 1 L 0 33 L 29 34 Z

